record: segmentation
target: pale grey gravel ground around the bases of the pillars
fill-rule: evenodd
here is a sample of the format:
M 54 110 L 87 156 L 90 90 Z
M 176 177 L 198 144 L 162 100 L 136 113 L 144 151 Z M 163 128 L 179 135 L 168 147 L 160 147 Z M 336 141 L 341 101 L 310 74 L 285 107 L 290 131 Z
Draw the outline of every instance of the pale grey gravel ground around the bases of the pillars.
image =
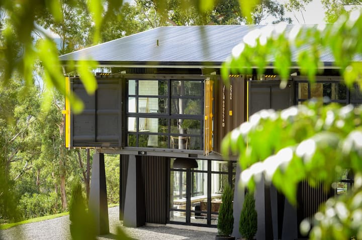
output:
M 99 236 L 100 240 L 115 239 L 116 227 L 122 225 L 118 220 L 118 206 L 108 209 L 110 234 Z M 0 230 L 0 239 L 18 240 L 18 239 L 40 239 L 40 240 L 63 240 L 70 239 L 69 233 L 69 216 L 62 216 L 50 220 L 27 223 L 15 226 L 6 230 Z M 216 233 L 210 231 L 196 231 L 183 228 L 173 228 L 169 226 L 142 226 L 142 227 L 123 227 L 122 229 L 134 239 L 194 239 L 206 240 L 214 239 Z

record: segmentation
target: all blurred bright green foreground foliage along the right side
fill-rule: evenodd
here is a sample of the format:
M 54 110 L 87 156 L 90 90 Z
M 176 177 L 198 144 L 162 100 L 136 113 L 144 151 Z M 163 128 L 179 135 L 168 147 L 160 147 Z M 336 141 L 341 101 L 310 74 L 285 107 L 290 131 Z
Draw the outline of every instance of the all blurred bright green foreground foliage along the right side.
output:
M 314 81 L 322 51 L 329 51 L 339 67 L 348 87 L 362 84 L 361 63 L 355 55 L 361 54 L 362 15 L 359 11 L 342 15 L 334 25 L 265 27 L 250 33 L 247 41 L 233 49 L 233 55 L 224 64 L 222 74 L 228 79 L 232 73 L 250 71 L 258 66 L 262 74 L 270 56 L 274 66 L 286 80 L 292 68 L 292 49 L 297 50 L 298 66 L 303 75 Z M 350 44 L 347 44 L 350 43 Z M 308 49 L 302 49 L 305 44 Z M 277 47 L 278 46 L 278 47 Z M 281 46 L 283 46 L 281 48 Z M 268 59 L 266 59 L 266 57 Z M 255 61 L 258 60 L 258 61 Z M 281 83 L 285 87 L 286 82 Z M 239 154 L 242 184 L 253 189 L 255 179 L 263 176 L 296 203 L 296 189 L 306 179 L 315 186 L 322 181 L 330 186 L 343 169 L 351 169 L 355 185 L 345 197 L 328 200 L 315 215 L 311 239 L 347 239 L 362 237 L 362 226 L 355 224 L 362 206 L 358 200 L 362 182 L 362 128 L 361 107 L 327 105 L 310 102 L 281 112 L 263 110 L 233 130 L 224 140 L 224 154 L 229 147 Z M 262 133 L 262 138 L 260 137 Z M 262 139 L 262 143 L 260 143 Z M 247 146 L 247 147 L 246 147 Z M 246 150 L 247 149 L 247 150 Z M 304 221 L 305 232 L 311 223 Z

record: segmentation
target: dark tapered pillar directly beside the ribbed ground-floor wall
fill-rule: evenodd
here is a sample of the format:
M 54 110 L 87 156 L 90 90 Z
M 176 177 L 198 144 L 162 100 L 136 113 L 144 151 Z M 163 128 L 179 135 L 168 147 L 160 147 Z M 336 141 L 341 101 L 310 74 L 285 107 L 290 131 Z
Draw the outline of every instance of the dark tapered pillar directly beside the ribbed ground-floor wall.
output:
M 123 225 L 138 227 L 145 224 L 144 186 L 142 183 L 141 159 L 129 156 Z

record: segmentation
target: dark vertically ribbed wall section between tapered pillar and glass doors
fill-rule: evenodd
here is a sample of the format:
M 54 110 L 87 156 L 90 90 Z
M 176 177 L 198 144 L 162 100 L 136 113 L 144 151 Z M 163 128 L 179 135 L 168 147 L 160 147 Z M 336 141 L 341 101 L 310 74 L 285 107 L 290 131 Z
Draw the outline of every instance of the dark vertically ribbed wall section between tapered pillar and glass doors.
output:
M 141 171 L 145 189 L 146 222 L 166 223 L 167 158 L 143 156 Z

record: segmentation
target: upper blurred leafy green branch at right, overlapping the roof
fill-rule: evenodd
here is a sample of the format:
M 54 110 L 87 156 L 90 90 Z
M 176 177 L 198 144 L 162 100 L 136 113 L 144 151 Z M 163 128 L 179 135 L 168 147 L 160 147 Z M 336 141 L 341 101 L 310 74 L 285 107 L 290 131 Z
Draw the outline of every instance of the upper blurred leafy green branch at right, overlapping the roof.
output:
M 227 79 L 229 72 L 250 73 L 252 66 L 257 67 L 258 74 L 263 74 L 265 67 L 273 62 L 284 88 L 293 67 L 300 68 L 301 75 L 314 81 L 315 75 L 323 69 L 320 58 L 331 54 L 334 66 L 351 87 L 354 82 L 361 83 L 360 63 L 355 62 L 362 52 L 362 43 L 355 41 L 361 34 L 359 11 L 342 15 L 333 25 L 265 26 L 249 32 L 234 47 L 232 56 L 223 64 L 222 75 Z

